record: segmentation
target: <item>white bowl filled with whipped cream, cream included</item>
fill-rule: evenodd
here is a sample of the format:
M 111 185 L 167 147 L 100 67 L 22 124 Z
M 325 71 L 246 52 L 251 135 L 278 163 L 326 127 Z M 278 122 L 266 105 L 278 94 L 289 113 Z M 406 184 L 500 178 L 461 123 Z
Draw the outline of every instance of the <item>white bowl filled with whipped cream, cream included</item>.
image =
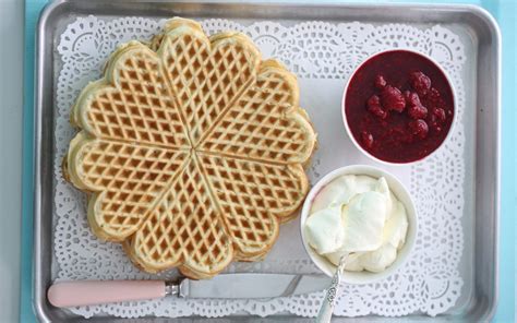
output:
M 417 211 L 404 184 L 366 165 L 338 168 L 309 192 L 301 237 L 314 264 L 333 276 L 348 255 L 342 280 L 386 278 L 408 259 L 417 237 Z

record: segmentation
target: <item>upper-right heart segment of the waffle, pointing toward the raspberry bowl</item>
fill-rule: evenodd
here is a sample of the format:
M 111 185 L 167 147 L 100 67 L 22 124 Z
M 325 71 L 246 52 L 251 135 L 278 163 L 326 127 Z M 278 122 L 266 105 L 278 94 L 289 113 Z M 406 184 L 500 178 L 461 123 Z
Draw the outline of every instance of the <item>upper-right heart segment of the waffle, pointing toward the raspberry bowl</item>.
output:
M 255 82 L 206 136 L 202 151 L 255 160 L 304 163 L 315 144 L 299 108 L 298 83 L 275 60 L 264 61 Z

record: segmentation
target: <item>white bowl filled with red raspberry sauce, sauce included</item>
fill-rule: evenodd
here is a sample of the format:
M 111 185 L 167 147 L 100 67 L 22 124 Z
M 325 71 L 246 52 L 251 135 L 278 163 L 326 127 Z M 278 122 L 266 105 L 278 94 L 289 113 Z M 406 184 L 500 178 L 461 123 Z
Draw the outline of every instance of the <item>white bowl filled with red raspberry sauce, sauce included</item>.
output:
M 428 56 L 401 49 L 361 63 L 345 87 L 342 106 L 356 146 L 388 164 L 413 163 L 436 152 L 456 118 L 445 71 Z

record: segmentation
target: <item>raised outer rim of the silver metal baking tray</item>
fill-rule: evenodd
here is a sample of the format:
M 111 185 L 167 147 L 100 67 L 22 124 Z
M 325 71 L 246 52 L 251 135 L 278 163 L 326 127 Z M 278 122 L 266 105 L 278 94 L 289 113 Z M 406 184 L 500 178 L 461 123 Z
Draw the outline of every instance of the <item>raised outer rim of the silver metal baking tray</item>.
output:
M 41 145 L 43 140 L 41 140 L 41 132 L 43 132 L 43 106 L 44 106 L 44 97 L 46 96 L 46 89 L 47 87 L 50 87 L 53 89 L 53 83 L 51 85 L 44 86 L 46 84 L 46 79 L 50 79 L 53 81 L 53 64 L 51 67 L 52 73 L 45 72 L 45 61 L 46 57 L 43 55 L 44 49 L 46 48 L 45 41 L 44 41 L 44 35 L 45 35 L 45 27 L 48 24 L 49 20 L 52 17 L 52 14 L 56 14 L 56 12 L 61 9 L 62 7 L 70 5 L 72 3 L 79 3 L 79 0 L 55 0 L 52 2 L 49 2 L 44 10 L 41 10 L 37 23 L 37 31 L 36 31 L 36 55 L 35 55 L 35 63 L 36 63 L 36 69 L 35 69 L 35 79 L 34 79 L 34 93 L 35 93 L 35 98 L 34 98 L 34 147 L 33 147 L 33 153 L 34 153 L 34 165 L 33 165 L 33 170 L 34 170 L 34 187 L 33 187 L 33 196 L 34 196 L 34 228 L 33 228 L 33 235 L 34 235 L 34 252 L 33 252 L 33 310 L 36 313 L 36 318 L 41 321 L 41 322 L 51 322 L 51 315 L 48 312 L 49 311 L 49 306 L 48 302 L 45 301 L 45 296 L 44 297 L 38 297 L 40 295 L 45 295 L 46 289 L 46 284 L 43 282 L 43 277 L 40 275 L 41 272 L 41 265 L 43 265 L 43 250 L 41 250 L 41 203 L 43 203 L 43 193 L 41 193 L 41 177 L 43 177 L 43 170 L 41 170 Z M 88 1 L 91 3 L 106 3 L 105 0 L 91 0 Z M 153 4 L 158 4 L 158 3 L 166 3 L 166 1 L 160 1 L 160 0 L 143 0 L 143 1 L 123 1 L 123 0 L 112 0 L 110 3 L 117 4 L 117 3 L 127 3 L 127 4 L 135 4 L 135 3 L 153 3 Z M 444 4 L 444 3 L 438 3 L 438 4 L 425 4 L 425 3 L 382 3 L 382 4 L 376 4 L 376 3 L 336 3 L 336 2 L 258 2 L 258 1 L 248 1 L 245 3 L 238 3 L 238 2 L 229 2 L 229 1 L 224 1 L 219 3 L 214 3 L 208 1 L 187 1 L 187 0 L 180 0 L 180 1 L 175 1 L 173 3 L 169 3 L 170 5 L 175 4 L 207 4 L 207 5 L 254 5 L 254 7 L 275 7 L 275 5 L 281 5 L 281 7 L 292 7 L 292 8 L 349 8 L 349 9 L 366 9 L 371 7 L 381 7 L 381 8 L 399 8 L 399 9 L 411 9 L 411 8 L 417 8 L 419 10 L 436 10 L 436 9 L 447 9 L 452 11 L 466 11 L 471 14 L 476 19 L 479 19 L 485 27 L 488 28 L 489 34 L 494 38 L 494 50 L 495 50 L 495 92 L 494 93 L 494 103 L 495 103 L 495 112 L 496 112 L 496 118 L 494 120 L 494 127 L 495 127 L 495 147 L 494 147 L 494 159 L 495 159 L 495 170 L 494 170 L 494 201 L 493 201 L 493 211 L 494 211 L 494 218 L 493 218 L 493 236 L 494 236 L 494 241 L 493 241 L 493 248 L 491 248 L 491 251 L 493 252 L 493 259 L 494 259 L 494 264 L 493 264 L 493 273 L 492 273 L 492 278 L 493 278 L 493 295 L 491 295 L 491 298 L 488 301 L 486 304 L 486 310 L 481 313 L 483 321 L 490 321 L 496 310 L 497 302 L 498 302 L 498 267 L 500 267 L 500 262 L 498 262 L 498 249 L 500 249 L 500 239 L 498 239 L 498 232 L 500 232 L 500 212 L 501 212 L 501 87 L 502 87 L 502 36 L 501 36 L 501 29 L 495 21 L 495 19 L 483 8 L 476 5 L 476 4 Z M 141 16 L 148 16 L 148 14 L 142 14 Z M 50 75 L 47 75 L 50 74 Z M 47 77 L 46 77 L 47 76 Z M 48 95 L 47 95 L 48 96 Z M 53 91 L 51 92 L 51 100 L 53 101 Z M 51 120 L 53 120 L 53 115 L 51 117 Z M 53 127 L 52 127 L 53 129 Z M 51 147 L 53 151 L 53 132 L 51 133 Z M 52 167 L 53 168 L 53 167 Z M 477 168 L 477 166 L 474 166 Z M 52 170 L 53 171 L 53 170 Z M 53 201 L 50 202 L 53 204 Z M 51 215 L 50 215 L 51 217 Z M 50 225 L 51 226 L 51 225 Z M 477 227 L 477 226 L 476 226 Z M 51 242 L 50 242 L 51 243 Z M 82 321 L 83 318 L 77 316 L 80 321 Z M 155 316 L 153 316 L 155 318 Z M 192 319 L 191 318 L 183 318 L 185 320 Z M 238 320 L 239 318 L 250 318 L 250 316 L 231 316 L 231 319 Z M 269 318 L 275 318 L 275 316 L 269 316 Z M 112 318 L 113 320 L 120 319 L 120 318 Z M 227 318 L 230 319 L 230 318 Z M 119 320 L 117 320 L 119 321 Z M 183 321 L 183 320 L 181 320 Z

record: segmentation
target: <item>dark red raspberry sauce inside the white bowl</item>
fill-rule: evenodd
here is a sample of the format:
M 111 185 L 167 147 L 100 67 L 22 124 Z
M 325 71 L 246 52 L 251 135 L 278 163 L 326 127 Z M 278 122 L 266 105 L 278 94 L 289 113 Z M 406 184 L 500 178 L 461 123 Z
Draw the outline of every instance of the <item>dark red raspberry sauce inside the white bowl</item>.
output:
M 409 103 L 402 112 L 388 111 L 385 119 L 369 111 L 366 105 L 372 95 L 381 94 L 376 84 L 380 75 L 401 93 L 417 93 L 410 83 L 412 72 L 422 72 L 431 79 L 431 89 L 419 96 L 429 111 L 423 119 L 429 132 L 423 139 L 409 125 L 414 120 L 408 115 Z M 364 62 L 349 82 L 345 105 L 348 127 L 361 147 L 381 160 L 400 164 L 422 159 L 434 152 L 447 136 L 455 113 L 453 89 L 446 76 L 432 61 L 407 50 L 382 52 Z M 443 115 L 435 112 L 436 109 L 445 111 L 445 120 L 436 118 Z M 373 142 L 364 143 L 362 137 L 370 139 L 370 134 Z

